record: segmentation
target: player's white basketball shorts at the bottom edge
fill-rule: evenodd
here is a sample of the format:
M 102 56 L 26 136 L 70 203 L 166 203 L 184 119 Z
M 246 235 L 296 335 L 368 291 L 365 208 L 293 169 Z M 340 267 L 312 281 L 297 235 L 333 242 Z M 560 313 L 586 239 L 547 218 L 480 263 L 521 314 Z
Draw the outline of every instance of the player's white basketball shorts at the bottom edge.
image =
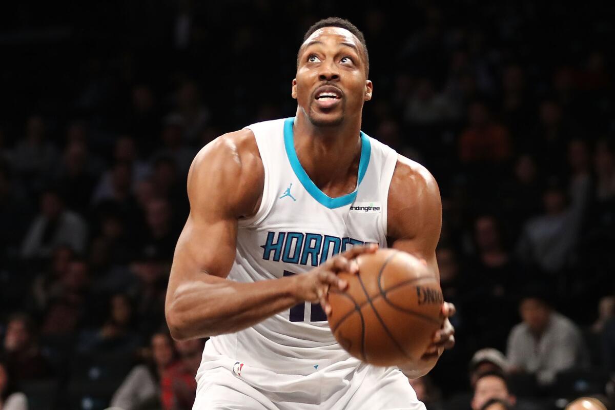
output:
M 200 370 L 192 410 L 426 410 L 397 368 L 331 368 L 307 376 L 239 366 Z

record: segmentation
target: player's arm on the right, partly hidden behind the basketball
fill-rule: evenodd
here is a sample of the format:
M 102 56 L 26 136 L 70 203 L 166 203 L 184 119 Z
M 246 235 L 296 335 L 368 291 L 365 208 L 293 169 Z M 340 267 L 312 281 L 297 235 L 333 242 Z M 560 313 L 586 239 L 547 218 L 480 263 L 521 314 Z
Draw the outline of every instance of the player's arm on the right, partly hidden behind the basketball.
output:
M 399 156 L 387 205 L 387 232 L 389 245 L 424 259 L 427 268 L 440 280 L 440 272 L 435 258 L 435 248 L 440 239 L 442 227 L 442 201 L 434 177 L 422 165 Z M 446 318 L 449 304 L 443 307 L 445 326 L 434 335 L 434 342 L 445 346 L 445 339 L 450 336 L 452 326 Z M 454 310 L 453 310 L 454 312 Z M 449 327 L 450 326 L 450 327 Z M 421 363 L 404 363 L 400 365 L 408 377 L 420 377 L 427 374 L 440 357 L 438 348 L 427 351 Z

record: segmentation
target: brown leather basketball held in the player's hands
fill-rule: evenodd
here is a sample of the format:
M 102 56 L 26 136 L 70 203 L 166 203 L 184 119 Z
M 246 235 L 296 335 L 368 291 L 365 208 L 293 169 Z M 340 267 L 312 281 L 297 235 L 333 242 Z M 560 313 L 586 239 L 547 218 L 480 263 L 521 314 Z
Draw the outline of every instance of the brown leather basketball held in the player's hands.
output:
M 438 280 L 409 253 L 381 249 L 357 257 L 359 273 L 341 273 L 346 291 L 329 293 L 329 326 L 354 357 L 376 366 L 417 361 L 443 324 Z

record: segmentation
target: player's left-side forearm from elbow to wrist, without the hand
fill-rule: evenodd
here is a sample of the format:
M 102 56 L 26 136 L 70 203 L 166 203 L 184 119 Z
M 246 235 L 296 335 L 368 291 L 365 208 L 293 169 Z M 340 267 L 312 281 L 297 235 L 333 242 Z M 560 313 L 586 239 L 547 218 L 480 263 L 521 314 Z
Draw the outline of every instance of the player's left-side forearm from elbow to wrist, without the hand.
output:
M 239 283 L 208 275 L 170 295 L 167 324 L 175 339 L 239 331 L 295 306 L 295 287 L 292 277 Z

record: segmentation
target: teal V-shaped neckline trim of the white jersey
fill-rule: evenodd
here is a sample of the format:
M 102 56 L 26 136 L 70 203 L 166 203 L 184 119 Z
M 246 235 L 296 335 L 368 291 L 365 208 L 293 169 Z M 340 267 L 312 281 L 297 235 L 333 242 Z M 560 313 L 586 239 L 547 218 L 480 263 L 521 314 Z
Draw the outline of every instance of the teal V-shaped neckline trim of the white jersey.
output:
M 284 146 L 286 148 L 286 154 L 288 156 L 290 166 L 293 168 L 293 171 L 295 171 L 295 175 L 301 182 L 301 185 L 303 185 L 306 191 L 308 191 L 309 194 L 312 195 L 312 198 L 314 198 L 320 204 L 324 205 L 327 208 L 335 209 L 339 207 L 344 207 L 345 205 L 350 205 L 357 197 L 357 190 L 359 189 L 361 181 L 363 181 L 363 176 L 365 176 L 365 172 L 367 171 L 367 165 L 370 163 L 371 144 L 368 136 L 365 135 L 365 133 L 363 133 L 362 131 L 360 132 L 361 157 L 359 159 L 359 175 L 357 177 L 357 188 L 350 194 L 346 194 L 337 198 L 331 198 L 324 192 L 320 191 L 320 188 L 312 182 L 312 179 L 309 178 L 308 174 L 301 166 L 301 162 L 299 162 L 299 158 L 297 157 L 297 153 L 295 151 L 295 133 L 293 132 L 293 124 L 295 124 L 294 117 L 287 118 L 284 121 Z

